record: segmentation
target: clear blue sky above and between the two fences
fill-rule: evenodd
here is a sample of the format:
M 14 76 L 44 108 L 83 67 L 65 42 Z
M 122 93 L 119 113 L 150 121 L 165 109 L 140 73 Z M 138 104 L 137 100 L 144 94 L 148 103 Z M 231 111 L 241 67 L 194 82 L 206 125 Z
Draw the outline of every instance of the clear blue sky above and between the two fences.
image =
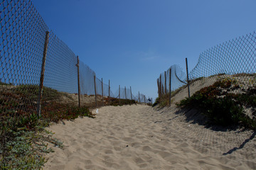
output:
M 156 98 L 172 64 L 256 30 L 255 0 L 32 0 L 50 30 L 105 84 Z

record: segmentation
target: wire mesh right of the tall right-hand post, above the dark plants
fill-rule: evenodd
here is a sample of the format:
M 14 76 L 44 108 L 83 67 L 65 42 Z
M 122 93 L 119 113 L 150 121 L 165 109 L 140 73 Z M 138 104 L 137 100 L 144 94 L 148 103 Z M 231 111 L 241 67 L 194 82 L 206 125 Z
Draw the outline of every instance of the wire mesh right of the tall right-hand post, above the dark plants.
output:
M 191 92 L 199 84 L 213 84 L 219 79 L 233 79 L 243 91 L 255 87 L 255 63 L 255 32 L 223 42 L 201 53 L 198 64 L 188 74 Z

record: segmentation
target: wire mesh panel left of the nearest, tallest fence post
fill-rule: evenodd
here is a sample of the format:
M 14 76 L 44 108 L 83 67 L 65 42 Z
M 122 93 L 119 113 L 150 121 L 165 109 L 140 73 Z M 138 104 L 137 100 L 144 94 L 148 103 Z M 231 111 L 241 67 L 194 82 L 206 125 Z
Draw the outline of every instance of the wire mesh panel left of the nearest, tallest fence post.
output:
M 31 1 L 1 1 L 0 11 L 0 110 L 33 113 L 48 27 Z

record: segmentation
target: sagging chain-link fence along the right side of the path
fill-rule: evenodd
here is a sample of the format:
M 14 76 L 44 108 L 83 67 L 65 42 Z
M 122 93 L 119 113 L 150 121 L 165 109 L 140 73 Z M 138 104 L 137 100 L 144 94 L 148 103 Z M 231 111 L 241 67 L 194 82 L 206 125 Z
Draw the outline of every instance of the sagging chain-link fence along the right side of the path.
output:
M 220 124 L 227 118 L 226 122 L 243 122 L 245 126 L 254 127 L 255 63 L 255 32 L 223 42 L 202 52 L 189 74 L 187 59 L 186 74 L 176 65 L 162 73 L 157 79 L 159 100 L 165 102 L 163 105 L 189 106 L 193 103 L 194 108 Z M 184 98 L 190 99 L 181 101 Z M 245 121 L 248 117 L 250 119 Z

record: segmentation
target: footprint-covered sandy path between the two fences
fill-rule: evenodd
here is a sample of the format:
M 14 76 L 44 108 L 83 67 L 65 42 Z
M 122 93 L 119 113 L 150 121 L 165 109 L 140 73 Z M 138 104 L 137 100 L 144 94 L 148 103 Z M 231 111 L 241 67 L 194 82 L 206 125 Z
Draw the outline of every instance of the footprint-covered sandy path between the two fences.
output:
M 106 106 L 95 119 L 51 125 L 65 147 L 44 169 L 256 169 L 255 133 L 208 130 L 176 111 Z

